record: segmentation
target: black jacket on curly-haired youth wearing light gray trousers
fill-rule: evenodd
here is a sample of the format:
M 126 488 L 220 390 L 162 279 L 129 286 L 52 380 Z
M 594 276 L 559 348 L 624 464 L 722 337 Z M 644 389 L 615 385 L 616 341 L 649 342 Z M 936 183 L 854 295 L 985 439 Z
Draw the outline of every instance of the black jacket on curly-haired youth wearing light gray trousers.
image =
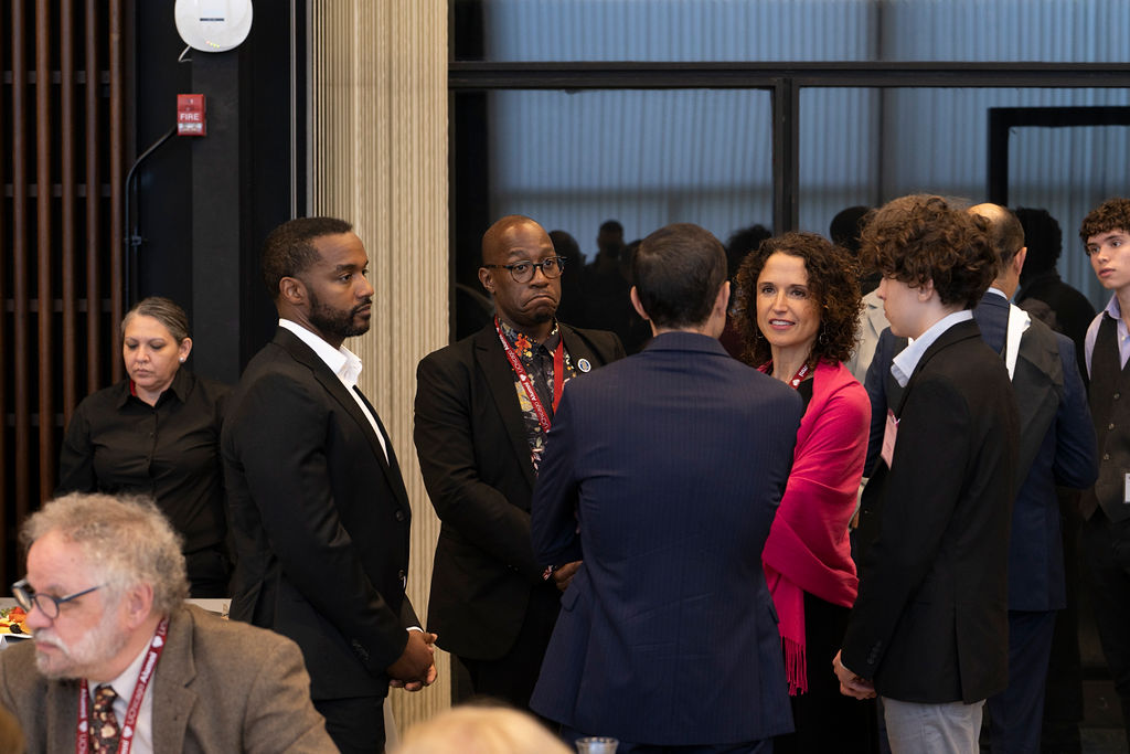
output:
M 972 703 L 1008 683 L 1008 531 L 1019 418 L 1008 372 L 959 322 L 927 348 L 895 411 L 878 534 L 843 664 L 884 696 Z

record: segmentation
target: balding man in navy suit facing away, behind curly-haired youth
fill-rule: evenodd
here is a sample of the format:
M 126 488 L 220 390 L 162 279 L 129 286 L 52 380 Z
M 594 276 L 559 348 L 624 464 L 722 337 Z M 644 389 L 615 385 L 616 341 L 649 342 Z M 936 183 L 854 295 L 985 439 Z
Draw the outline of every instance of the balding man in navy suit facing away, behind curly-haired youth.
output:
M 973 312 L 981 337 L 1001 354 L 1020 415 L 1018 494 L 1008 548 L 1008 688 L 989 699 L 993 752 L 1041 748 L 1044 684 L 1057 613 L 1067 606 L 1063 540 L 1055 486 L 1083 489 L 1098 474 L 1095 430 L 1075 345 L 1009 300 L 1027 254 L 1017 217 L 977 205 L 998 271 Z

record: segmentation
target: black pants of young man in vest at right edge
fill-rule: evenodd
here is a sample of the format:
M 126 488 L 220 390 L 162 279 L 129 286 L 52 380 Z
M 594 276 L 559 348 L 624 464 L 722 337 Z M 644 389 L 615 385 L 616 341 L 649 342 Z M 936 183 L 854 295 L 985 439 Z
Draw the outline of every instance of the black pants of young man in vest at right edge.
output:
M 1102 509 L 1095 511 L 1083 525 L 1083 549 L 1094 588 L 1095 624 L 1130 743 L 1130 519 L 1115 523 Z

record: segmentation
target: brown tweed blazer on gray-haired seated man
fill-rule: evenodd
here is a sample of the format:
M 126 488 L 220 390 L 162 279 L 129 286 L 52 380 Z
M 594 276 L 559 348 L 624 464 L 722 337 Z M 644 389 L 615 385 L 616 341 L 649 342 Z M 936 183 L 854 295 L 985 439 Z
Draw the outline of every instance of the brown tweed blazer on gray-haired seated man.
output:
M 31 641 L 0 652 L 0 704 L 29 754 L 75 751 L 77 681 L 49 681 Z M 293 641 L 192 606 L 173 614 L 153 678 L 155 752 L 337 752 Z

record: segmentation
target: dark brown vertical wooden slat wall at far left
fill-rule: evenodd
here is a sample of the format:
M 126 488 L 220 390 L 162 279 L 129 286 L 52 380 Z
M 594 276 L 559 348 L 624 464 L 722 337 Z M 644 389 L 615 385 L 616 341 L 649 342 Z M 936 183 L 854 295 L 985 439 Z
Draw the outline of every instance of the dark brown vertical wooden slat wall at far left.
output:
M 16 531 L 54 489 L 71 411 L 122 371 L 121 1 L 5 5 L 0 583 L 21 571 Z

